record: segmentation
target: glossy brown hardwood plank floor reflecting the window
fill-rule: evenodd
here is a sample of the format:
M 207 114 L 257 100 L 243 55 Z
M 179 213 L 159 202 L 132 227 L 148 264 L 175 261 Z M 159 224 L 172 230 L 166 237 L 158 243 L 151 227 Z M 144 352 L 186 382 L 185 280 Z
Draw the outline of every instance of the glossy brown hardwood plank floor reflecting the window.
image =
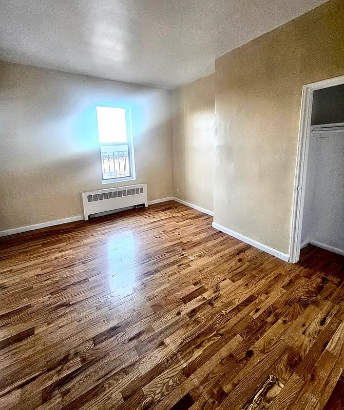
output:
M 0 408 L 344 408 L 344 258 L 211 221 L 171 201 L 4 238 Z

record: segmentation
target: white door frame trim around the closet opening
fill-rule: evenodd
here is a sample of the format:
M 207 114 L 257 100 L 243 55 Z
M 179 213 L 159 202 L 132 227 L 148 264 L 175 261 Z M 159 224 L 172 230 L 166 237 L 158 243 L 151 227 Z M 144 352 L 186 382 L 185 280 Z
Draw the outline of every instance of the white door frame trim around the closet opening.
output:
M 307 175 L 307 161 L 311 132 L 313 92 L 322 88 L 344 84 L 344 75 L 317 81 L 302 87 L 300 126 L 297 144 L 296 171 L 294 181 L 294 198 L 292 209 L 292 226 L 289 246 L 289 262 L 296 263 L 300 259 L 301 231 L 304 208 L 304 192 Z

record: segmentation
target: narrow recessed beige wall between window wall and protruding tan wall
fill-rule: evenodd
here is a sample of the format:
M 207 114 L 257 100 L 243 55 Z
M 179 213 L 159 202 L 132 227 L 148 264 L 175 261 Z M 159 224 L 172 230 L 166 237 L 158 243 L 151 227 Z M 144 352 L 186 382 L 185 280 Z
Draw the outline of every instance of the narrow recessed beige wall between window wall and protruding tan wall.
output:
M 214 74 L 171 93 L 173 195 L 209 211 L 214 202 L 214 103 Z

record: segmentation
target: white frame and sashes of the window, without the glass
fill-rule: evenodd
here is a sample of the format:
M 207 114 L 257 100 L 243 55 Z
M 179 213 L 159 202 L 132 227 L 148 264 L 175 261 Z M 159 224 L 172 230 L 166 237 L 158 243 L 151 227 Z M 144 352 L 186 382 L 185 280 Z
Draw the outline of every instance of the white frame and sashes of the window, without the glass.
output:
M 100 142 L 99 139 L 99 127 L 98 127 L 98 116 L 97 116 L 97 107 L 107 107 L 107 108 L 122 108 L 125 112 L 125 126 L 127 132 L 127 140 L 123 142 Z M 95 101 L 95 119 L 97 121 L 97 133 L 98 133 L 98 144 L 99 144 L 99 158 L 100 158 L 100 173 L 102 184 L 122 182 L 122 181 L 133 181 L 136 179 L 136 170 L 135 170 L 135 156 L 134 156 L 134 141 L 132 135 L 132 121 L 131 121 L 131 107 L 127 104 L 118 103 L 117 101 Z M 102 146 L 123 146 L 128 147 L 128 162 L 129 162 L 129 172 L 130 175 L 118 177 L 118 178 L 103 178 L 102 170 Z

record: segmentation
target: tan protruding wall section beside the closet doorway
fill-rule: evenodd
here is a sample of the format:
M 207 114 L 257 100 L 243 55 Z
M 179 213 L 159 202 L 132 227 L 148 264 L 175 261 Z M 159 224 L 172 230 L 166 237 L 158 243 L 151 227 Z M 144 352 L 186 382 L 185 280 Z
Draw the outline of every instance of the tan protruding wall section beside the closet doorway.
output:
M 288 253 L 302 85 L 344 74 L 344 2 L 216 60 L 214 221 Z

